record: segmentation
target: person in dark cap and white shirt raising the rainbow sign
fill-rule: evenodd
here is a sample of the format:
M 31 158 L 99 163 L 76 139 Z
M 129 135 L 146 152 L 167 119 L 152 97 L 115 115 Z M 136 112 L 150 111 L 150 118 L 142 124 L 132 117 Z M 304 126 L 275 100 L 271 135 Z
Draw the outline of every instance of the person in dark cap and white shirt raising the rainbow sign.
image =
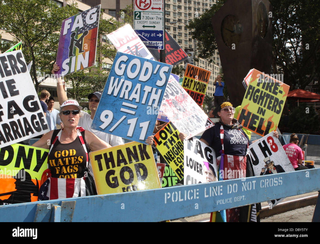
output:
M 56 64 L 53 65 L 53 69 L 52 69 L 52 74 L 54 74 L 56 71 L 58 71 L 60 69 L 60 67 Z M 67 95 L 64 91 L 62 82 L 61 82 L 61 78 L 57 78 L 57 93 L 58 93 L 58 99 L 59 99 L 59 103 L 60 105 L 66 101 Z M 83 116 L 79 119 L 79 126 L 83 127 L 85 130 L 88 130 L 92 133 L 94 133 L 96 136 L 98 136 L 101 140 L 107 142 L 108 144 L 110 144 L 112 147 L 113 146 L 117 146 L 117 145 L 122 145 L 123 144 L 123 140 L 121 137 L 119 136 L 115 136 L 115 135 L 111 135 L 102 131 L 98 131 L 98 130 L 94 130 L 91 128 L 91 124 L 94 118 L 94 115 L 97 111 L 98 108 L 98 104 L 100 102 L 101 99 L 101 95 L 102 92 L 101 91 L 96 91 L 94 93 L 90 93 L 88 95 L 88 99 L 89 99 L 89 109 L 91 111 L 91 115 L 82 111 L 83 112 Z

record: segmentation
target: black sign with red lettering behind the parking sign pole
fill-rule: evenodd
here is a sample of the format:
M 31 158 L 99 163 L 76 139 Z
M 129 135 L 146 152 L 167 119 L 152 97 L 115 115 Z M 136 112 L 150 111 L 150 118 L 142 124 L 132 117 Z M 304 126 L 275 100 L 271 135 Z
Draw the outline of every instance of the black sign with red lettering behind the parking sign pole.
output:
M 153 57 L 160 61 L 160 50 L 149 49 Z M 169 65 L 177 65 L 188 59 L 187 53 L 179 46 L 172 36 L 165 31 L 165 63 Z

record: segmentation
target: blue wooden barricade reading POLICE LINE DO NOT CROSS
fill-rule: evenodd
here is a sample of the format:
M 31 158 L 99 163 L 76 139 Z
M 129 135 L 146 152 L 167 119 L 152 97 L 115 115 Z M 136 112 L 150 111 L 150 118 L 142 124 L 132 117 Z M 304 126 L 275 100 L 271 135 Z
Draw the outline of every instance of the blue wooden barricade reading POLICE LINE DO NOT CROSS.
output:
M 0 207 L 1 222 L 156 222 L 320 190 L 320 168 Z M 320 220 L 317 200 L 313 221 Z

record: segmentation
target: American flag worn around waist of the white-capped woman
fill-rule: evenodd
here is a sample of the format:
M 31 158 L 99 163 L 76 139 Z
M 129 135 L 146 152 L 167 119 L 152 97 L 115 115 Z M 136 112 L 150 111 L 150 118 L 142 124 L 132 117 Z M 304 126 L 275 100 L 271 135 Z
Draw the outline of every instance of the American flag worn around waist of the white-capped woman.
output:
M 38 201 L 85 196 L 85 181 L 82 178 L 48 178 L 39 189 Z

